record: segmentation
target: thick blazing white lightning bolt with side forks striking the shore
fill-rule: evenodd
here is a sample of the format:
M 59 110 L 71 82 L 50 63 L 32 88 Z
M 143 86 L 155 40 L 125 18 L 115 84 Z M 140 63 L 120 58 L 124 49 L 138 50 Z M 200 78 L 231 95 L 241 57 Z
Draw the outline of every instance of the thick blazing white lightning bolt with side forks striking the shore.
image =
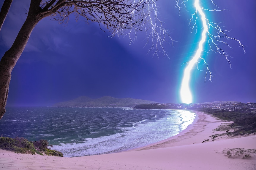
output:
M 187 10 L 186 6 L 185 6 L 185 2 L 187 2 L 188 0 L 184 1 L 182 0 L 182 3 L 185 7 L 185 9 Z M 179 6 L 179 0 L 176 0 L 177 5 L 176 7 L 179 9 L 181 9 L 181 7 Z M 211 0 L 211 2 L 214 4 L 214 2 Z M 214 4 L 216 7 L 217 5 Z M 224 44 L 226 46 L 228 46 L 229 48 L 231 48 L 228 43 L 226 43 L 225 40 L 234 40 L 237 41 L 239 43 L 239 45 L 243 48 L 244 50 L 244 46 L 241 44 L 241 42 L 238 39 L 235 38 L 231 38 L 227 35 L 227 32 L 229 32 L 228 30 L 222 30 L 222 27 L 219 26 L 219 23 L 214 23 L 214 22 L 210 22 L 207 18 L 206 15 L 204 13 L 205 10 L 208 11 L 222 11 L 222 10 L 226 10 L 226 9 L 204 9 L 203 7 L 200 6 L 199 0 L 194 0 L 194 7 L 196 9 L 195 13 L 192 14 L 192 18 L 189 20 L 189 24 L 191 23 L 192 20 L 194 21 L 194 25 L 192 26 L 192 30 L 191 32 L 193 32 L 193 29 L 196 28 L 197 31 L 197 19 L 200 18 L 200 22 L 203 25 L 202 28 L 202 32 L 201 32 L 201 38 L 197 47 L 197 50 L 195 52 L 195 55 L 192 57 L 192 59 L 189 62 L 186 62 L 187 66 L 184 70 L 184 74 L 183 74 L 183 78 L 182 78 L 182 82 L 181 82 L 181 89 L 180 89 L 180 96 L 181 96 L 181 101 L 182 103 L 192 103 L 193 98 L 192 98 L 192 93 L 189 87 L 189 82 L 190 82 L 190 77 L 191 77 L 191 72 L 192 69 L 195 68 L 195 65 L 197 65 L 199 63 L 199 60 L 203 60 L 203 63 L 206 65 L 206 75 L 205 75 L 205 81 L 206 81 L 206 77 L 209 76 L 209 80 L 211 81 L 212 76 L 212 72 L 210 71 L 208 64 L 206 63 L 205 59 L 202 57 L 202 53 L 204 50 L 204 44 L 208 39 L 208 45 L 210 47 L 209 51 L 207 52 L 207 54 L 210 51 L 214 51 L 215 53 L 218 53 L 220 55 L 225 56 L 227 62 L 230 64 L 231 67 L 231 63 L 228 59 L 228 57 L 230 57 L 224 50 L 222 50 L 222 48 L 219 47 L 219 43 L 220 44 Z M 217 7 L 218 8 L 218 7 Z M 215 30 L 215 34 L 211 33 L 209 30 L 213 29 Z M 225 39 L 225 40 L 224 40 Z M 245 50 L 244 50 L 245 53 Z M 198 66 L 197 66 L 198 69 Z

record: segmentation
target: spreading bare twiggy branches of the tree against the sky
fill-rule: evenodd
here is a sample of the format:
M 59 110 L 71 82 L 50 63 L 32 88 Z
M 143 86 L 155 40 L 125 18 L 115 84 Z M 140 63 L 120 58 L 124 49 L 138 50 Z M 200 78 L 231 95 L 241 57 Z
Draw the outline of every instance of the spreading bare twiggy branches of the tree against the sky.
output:
M 60 23 L 68 22 L 69 14 L 76 19 L 98 22 L 113 31 L 113 35 L 123 34 L 123 30 L 134 28 L 145 30 L 149 16 L 148 5 L 153 0 L 42 0 L 40 7 L 43 17 L 50 16 Z

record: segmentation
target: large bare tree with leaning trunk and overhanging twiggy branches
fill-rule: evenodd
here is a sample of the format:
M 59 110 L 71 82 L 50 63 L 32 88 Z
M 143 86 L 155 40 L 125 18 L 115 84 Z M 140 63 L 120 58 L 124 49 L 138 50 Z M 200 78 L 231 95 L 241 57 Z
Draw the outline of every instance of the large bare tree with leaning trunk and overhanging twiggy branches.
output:
M 4 3 L 7 1 L 11 2 L 5 0 Z M 153 0 L 31 0 L 23 26 L 11 48 L 5 52 L 0 61 L 0 119 L 6 111 L 12 69 L 20 58 L 32 30 L 40 20 L 51 17 L 60 23 L 67 22 L 69 14 L 74 13 L 77 19 L 85 17 L 86 22 L 98 22 L 102 30 L 102 27 L 105 27 L 112 30 L 114 35 L 123 33 L 124 29 L 145 30 L 144 25 L 149 15 L 147 7 L 153 2 Z

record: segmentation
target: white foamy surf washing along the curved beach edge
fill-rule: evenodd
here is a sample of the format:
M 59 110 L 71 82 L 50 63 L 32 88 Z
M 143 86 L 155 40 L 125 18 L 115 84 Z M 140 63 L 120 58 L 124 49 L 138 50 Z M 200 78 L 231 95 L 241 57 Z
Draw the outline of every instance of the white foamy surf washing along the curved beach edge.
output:
M 142 120 L 129 127 L 116 127 L 120 132 L 113 135 L 82 138 L 83 143 L 54 145 L 53 149 L 61 151 L 67 157 L 129 150 L 177 135 L 195 119 L 195 114 L 189 111 L 165 111 L 168 112 L 167 116 L 154 122 Z

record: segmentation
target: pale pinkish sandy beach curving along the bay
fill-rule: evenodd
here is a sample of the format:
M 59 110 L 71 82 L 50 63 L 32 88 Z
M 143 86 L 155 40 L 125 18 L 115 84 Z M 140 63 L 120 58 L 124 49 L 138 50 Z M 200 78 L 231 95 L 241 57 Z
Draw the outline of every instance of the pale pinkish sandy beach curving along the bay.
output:
M 242 156 L 227 158 L 225 153 L 222 153 L 224 149 L 232 148 L 255 149 L 256 135 L 218 136 L 212 139 L 210 136 L 223 133 L 214 129 L 224 127 L 230 122 L 217 120 L 208 114 L 195 113 L 197 118 L 187 129 L 176 136 L 145 147 L 75 158 L 17 154 L 0 150 L 0 169 L 256 169 L 256 155 L 251 154 L 250 158 L 243 159 Z

